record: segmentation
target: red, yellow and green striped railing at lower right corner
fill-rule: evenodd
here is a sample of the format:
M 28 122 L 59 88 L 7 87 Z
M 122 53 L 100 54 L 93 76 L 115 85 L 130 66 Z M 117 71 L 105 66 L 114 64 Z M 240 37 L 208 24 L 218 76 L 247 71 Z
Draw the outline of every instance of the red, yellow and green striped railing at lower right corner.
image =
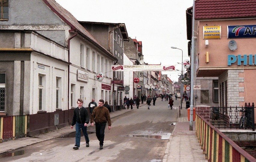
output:
M 196 134 L 208 161 L 256 161 L 254 157 L 198 114 L 196 114 Z

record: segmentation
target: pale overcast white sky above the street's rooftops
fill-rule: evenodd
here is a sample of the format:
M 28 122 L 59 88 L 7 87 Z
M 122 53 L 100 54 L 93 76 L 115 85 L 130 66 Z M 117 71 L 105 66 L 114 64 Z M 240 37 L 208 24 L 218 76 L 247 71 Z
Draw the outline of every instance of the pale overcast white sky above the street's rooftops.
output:
M 187 55 L 186 10 L 193 0 L 55 0 L 79 21 L 125 23 L 128 36 L 142 41 L 144 62 L 176 65 Z M 172 49 L 171 46 L 179 49 Z M 165 72 L 178 81 L 177 71 Z

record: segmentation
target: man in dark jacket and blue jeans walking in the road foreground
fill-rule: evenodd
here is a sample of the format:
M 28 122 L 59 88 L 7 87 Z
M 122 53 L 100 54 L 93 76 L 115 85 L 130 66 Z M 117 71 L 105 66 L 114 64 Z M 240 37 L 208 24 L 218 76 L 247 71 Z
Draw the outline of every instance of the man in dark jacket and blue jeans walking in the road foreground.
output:
M 75 147 L 73 149 L 78 150 L 80 147 L 81 140 L 81 129 L 84 134 L 84 138 L 86 141 L 86 147 L 89 147 L 89 137 L 87 134 L 87 124 L 89 123 L 89 113 L 86 108 L 82 107 L 83 100 L 77 100 L 78 107 L 74 109 L 74 116 L 71 123 L 71 129 L 75 125 Z

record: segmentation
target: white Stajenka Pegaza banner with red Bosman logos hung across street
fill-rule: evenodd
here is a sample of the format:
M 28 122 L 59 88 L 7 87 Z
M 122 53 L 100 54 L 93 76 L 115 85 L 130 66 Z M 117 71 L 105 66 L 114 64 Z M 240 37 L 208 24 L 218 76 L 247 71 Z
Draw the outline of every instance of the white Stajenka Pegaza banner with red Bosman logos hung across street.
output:
M 112 71 L 173 71 L 174 65 L 112 65 Z

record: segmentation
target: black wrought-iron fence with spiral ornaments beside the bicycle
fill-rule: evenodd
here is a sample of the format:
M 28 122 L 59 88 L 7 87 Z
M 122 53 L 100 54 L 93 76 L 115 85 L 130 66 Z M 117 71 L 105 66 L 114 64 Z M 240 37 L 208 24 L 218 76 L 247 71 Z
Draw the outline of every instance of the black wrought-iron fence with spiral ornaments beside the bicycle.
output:
M 242 113 L 245 111 L 245 114 Z M 245 125 L 241 127 L 241 121 L 245 117 Z M 245 107 L 211 107 L 210 123 L 221 129 L 252 129 L 254 126 L 254 103 Z

